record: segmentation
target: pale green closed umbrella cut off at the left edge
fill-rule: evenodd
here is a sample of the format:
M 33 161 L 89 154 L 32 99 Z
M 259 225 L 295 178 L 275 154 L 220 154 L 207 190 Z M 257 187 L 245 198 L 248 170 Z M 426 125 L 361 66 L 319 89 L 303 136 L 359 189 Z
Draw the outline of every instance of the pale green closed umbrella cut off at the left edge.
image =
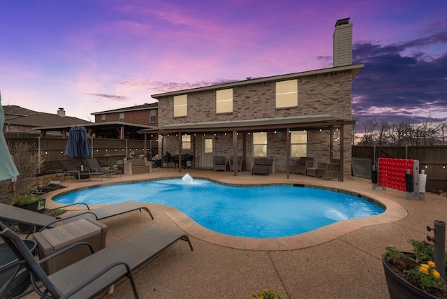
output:
M 4 180 L 13 179 L 13 191 L 15 190 L 14 182 L 19 171 L 15 167 L 13 159 L 6 145 L 6 139 L 3 135 L 3 124 L 5 123 L 5 112 L 3 106 L 1 105 L 1 95 L 0 95 L 0 182 Z

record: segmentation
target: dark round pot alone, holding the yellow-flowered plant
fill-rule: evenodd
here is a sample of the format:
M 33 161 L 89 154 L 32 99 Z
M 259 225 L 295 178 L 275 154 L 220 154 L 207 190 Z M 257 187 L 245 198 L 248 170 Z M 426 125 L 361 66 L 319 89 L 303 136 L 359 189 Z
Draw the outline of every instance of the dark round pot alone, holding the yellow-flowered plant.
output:
M 409 253 L 409 252 L 404 252 Z M 388 285 L 388 293 L 390 299 L 417 299 L 417 298 L 437 298 L 429 293 L 413 286 L 405 279 L 397 275 L 385 261 L 386 254 L 382 256 L 383 270 L 385 270 L 386 284 Z

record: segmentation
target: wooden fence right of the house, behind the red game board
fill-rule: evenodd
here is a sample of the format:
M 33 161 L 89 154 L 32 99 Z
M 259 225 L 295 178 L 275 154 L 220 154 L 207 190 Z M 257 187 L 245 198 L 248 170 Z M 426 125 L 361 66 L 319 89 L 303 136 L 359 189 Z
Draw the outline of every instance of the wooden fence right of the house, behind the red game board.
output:
M 355 145 L 353 158 L 369 158 L 373 167 L 379 158 L 413 159 L 427 175 L 427 191 L 447 191 L 447 146 L 445 145 Z

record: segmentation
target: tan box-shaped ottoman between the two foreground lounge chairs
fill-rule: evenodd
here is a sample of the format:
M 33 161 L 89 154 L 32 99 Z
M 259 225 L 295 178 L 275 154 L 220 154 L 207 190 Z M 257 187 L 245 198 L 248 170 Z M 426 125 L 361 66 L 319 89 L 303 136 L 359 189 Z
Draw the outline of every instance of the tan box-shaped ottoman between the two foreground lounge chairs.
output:
M 33 234 L 37 242 L 40 258 L 45 258 L 54 252 L 75 244 L 76 242 L 88 242 L 94 251 L 105 247 L 105 237 L 108 226 L 94 219 L 80 219 L 55 228 L 45 229 Z M 64 254 L 51 258 L 43 263 L 43 269 L 50 275 L 65 268 L 75 261 L 89 256 L 91 251 L 86 245 L 80 245 L 70 249 Z

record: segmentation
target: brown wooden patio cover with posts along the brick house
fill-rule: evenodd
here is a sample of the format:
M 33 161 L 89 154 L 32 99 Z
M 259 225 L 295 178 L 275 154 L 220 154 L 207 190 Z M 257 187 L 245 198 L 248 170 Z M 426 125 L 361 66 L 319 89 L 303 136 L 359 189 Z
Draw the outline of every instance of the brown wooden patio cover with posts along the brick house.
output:
M 184 134 L 216 134 L 216 133 L 232 133 L 233 134 L 233 168 L 237 169 L 237 134 L 242 133 L 242 145 L 243 156 L 246 161 L 246 133 L 249 132 L 261 132 L 261 131 L 286 131 L 286 165 L 290 163 L 290 150 L 291 150 L 291 131 L 292 130 L 329 130 L 330 132 L 330 159 L 332 161 L 333 156 L 333 138 L 332 131 L 335 129 L 340 130 L 340 136 L 344 136 L 344 126 L 355 124 L 356 121 L 352 119 L 339 119 L 337 117 L 331 117 L 330 115 L 311 115 L 301 117 L 279 117 L 279 118 L 266 118 L 266 119 L 247 119 L 242 121 L 228 121 L 228 122 L 200 122 L 200 123 L 188 123 L 188 124 L 172 124 L 159 126 L 153 129 L 140 130 L 139 133 L 143 134 L 159 134 L 159 136 L 168 136 L 170 134 L 177 134 L 179 140 L 179 161 L 182 160 L 182 135 Z M 145 140 L 147 138 L 145 137 Z M 195 142 L 195 141 L 194 141 Z M 164 144 L 161 143 L 161 152 L 164 152 Z M 195 147 L 193 147 L 194 156 Z M 344 172 L 344 144 L 340 143 L 340 180 L 343 180 Z M 182 172 L 182 168 L 179 167 L 179 172 Z M 289 178 L 289 169 L 286 167 L 287 178 Z M 237 171 L 234 172 L 237 175 Z

